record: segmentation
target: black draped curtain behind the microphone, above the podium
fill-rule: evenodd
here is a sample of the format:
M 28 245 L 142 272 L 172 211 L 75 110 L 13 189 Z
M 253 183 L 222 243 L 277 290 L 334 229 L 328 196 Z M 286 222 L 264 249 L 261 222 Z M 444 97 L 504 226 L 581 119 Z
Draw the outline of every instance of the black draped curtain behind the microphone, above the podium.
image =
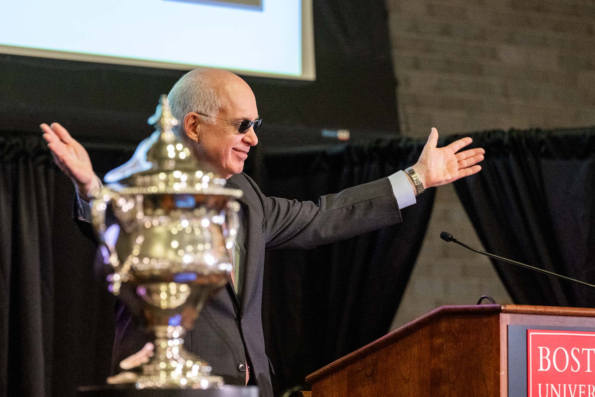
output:
M 486 149 L 483 171 L 455 187 L 486 249 L 595 283 L 595 128 L 471 136 Z M 591 288 L 494 266 L 515 303 L 595 307 Z

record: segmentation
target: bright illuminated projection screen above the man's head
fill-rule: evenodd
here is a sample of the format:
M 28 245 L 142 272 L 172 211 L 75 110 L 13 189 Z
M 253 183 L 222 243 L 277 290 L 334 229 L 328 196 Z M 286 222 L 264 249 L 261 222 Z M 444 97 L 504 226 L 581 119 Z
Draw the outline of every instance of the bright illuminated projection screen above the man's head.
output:
M 0 53 L 314 80 L 312 0 L 32 0 L 2 5 Z

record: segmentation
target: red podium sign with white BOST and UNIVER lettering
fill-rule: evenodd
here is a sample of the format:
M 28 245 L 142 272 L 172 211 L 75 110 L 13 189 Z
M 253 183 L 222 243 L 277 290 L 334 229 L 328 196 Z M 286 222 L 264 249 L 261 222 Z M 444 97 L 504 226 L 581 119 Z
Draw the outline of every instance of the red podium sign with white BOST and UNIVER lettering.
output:
M 528 397 L 595 397 L 595 332 L 527 330 Z

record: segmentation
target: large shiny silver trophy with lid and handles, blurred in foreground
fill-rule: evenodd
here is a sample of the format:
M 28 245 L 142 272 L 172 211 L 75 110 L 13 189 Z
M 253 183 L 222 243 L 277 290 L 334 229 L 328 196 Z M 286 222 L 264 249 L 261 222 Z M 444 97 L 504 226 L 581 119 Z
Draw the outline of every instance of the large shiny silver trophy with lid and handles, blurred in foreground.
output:
M 154 355 L 131 382 L 139 388 L 220 387 L 223 379 L 184 350 L 183 338 L 206 300 L 230 280 L 235 199 L 242 191 L 226 188 L 224 178 L 177 140 L 167 96 L 149 124 L 156 131 L 129 162 L 105 175 L 108 184 L 91 203 L 93 227 L 114 269 L 109 289 L 139 308 L 155 333 Z

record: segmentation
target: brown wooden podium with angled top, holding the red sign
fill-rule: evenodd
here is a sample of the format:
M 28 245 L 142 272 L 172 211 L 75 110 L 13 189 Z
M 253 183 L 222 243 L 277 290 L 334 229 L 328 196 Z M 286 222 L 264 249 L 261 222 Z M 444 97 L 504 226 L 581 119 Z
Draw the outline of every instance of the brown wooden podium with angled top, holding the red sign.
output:
M 509 393 L 509 351 L 511 357 L 522 355 L 509 350 L 509 330 L 519 339 L 528 328 L 595 330 L 595 309 L 443 306 L 328 364 L 306 381 L 312 385 L 312 397 L 527 396 L 526 342 L 525 364 L 515 358 L 524 368 L 511 367 L 511 379 L 517 382 L 524 376 L 525 384 L 514 385 Z

